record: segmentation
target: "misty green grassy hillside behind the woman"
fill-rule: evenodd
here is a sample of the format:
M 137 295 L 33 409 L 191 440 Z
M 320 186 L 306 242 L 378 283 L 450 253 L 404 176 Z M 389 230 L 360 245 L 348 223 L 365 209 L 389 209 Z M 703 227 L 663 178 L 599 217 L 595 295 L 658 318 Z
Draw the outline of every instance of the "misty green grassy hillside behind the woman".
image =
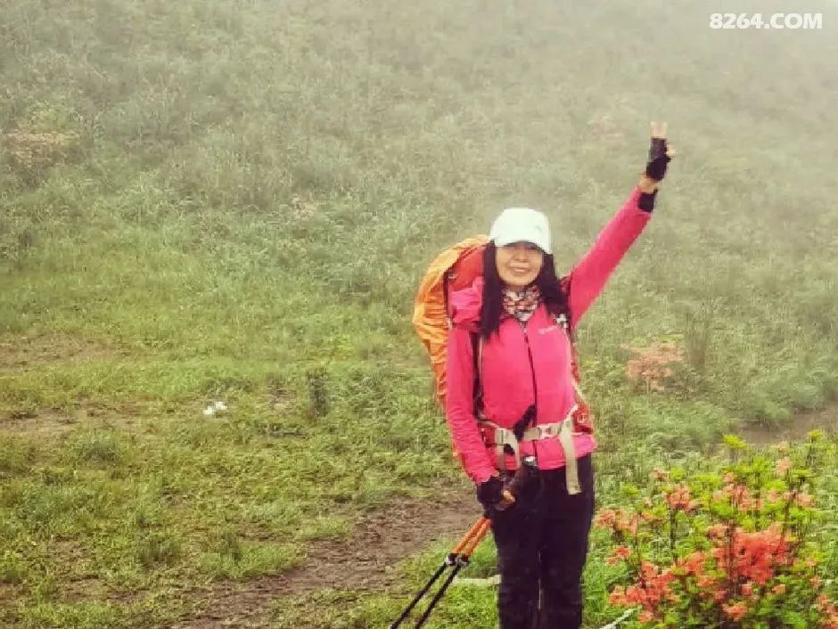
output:
M 679 156 L 579 330 L 604 492 L 828 404 L 838 5 L 725 7 L 793 10 L 824 29 L 646 0 L 6 0 L 0 621 L 168 626 L 195 584 L 462 490 L 409 324 L 424 266 L 527 204 L 570 268 L 652 119 Z M 653 341 L 686 359 L 650 393 L 621 346 Z

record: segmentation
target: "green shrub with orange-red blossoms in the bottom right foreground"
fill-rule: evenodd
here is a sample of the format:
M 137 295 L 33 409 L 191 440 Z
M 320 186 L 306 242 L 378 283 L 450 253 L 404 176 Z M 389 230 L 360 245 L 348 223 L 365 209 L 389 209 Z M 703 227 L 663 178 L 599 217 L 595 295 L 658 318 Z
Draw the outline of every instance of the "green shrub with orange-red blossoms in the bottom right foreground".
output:
M 633 508 L 597 514 L 622 568 L 609 603 L 639 609 L 626 626 L 838 629 L 838 539 L 814 472 L 834 445 L 811 433 L 772 461 L 726 440 L 740 460 L 720 472 L 655 470 Z

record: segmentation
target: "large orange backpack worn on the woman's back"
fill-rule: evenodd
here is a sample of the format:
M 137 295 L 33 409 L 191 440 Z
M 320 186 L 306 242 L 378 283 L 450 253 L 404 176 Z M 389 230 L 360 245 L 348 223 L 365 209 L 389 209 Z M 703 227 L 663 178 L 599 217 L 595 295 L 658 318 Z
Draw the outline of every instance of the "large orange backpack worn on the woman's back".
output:
M 445 249 L 428 266 L 416 293 L 413 324 L 431 357 L 435 391 L 442 408 L 446 398 L 446 349 L 451 311 L 448 296 L 455 290 L 472 285 L 483 273 L 483 250 L 489 238 L 476 236 Z M 566 278 L 563 278 L 563 282 Z M 576 388 L 577 410 L 573 413 L 573 429 L 578 432 L 594 431 L 593 416 L 579 390 L 579 360 L 576 347 L 571 343 L 571 373 Z

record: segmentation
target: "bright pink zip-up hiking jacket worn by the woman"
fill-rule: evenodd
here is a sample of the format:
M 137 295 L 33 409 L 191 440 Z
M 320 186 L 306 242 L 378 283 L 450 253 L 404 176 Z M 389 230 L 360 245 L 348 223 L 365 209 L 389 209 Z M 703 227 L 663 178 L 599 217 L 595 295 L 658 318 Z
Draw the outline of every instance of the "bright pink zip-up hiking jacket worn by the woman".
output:
M 579 323 L 648 223 L 650 213 L 637 207 L 639 198 L 640 189 L 635 188 L 599 234 L 594 246 L 571 271 L 568 299 L 572 325 Z M 446 366 L 448 427 L 456 451 L 462 456 L 464 469 L 476 483 L 492 475 L 496 461 L 494 448 L 487 448 L 481 439 L 472 400 L 471 333 L 478 330 L 482 290 L 483 280 L 479 277 L 471 287 L 451 294 L 454 327 L 448 335 Z M 538 306 L 524 328 L 512 317 L 501 320 L 497 336 L 493 334 L 483 345 L 482 368 L 483 413 L 499 426 L 511 429 L 532 404 L 536 392 L 538 424 L 562 421 L 575 404 L 570 339 L 543 304 Z M 578 457 L 596 448 L 591 435 L 577 433 L 573 438 Z M 538 457 L 538 467 L 543 470 L 564 465 L 564 453 L 558 439 L 522 443 L 521 455 L 528 454 Z M 507 468 L 514 468 L 511 456 L 507 459 Z

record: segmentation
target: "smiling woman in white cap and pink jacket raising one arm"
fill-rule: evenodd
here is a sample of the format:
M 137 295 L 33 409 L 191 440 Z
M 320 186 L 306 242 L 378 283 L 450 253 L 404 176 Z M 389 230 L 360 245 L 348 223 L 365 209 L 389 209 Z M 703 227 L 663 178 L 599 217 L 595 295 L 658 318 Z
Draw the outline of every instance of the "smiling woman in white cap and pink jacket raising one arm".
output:
M 653 123 L 645 174 L 562 282 L 546 216 L 508 208 L 492 225 L 482 277 L 450 296 L 446 415 L 491 519 L 501 629 L 581 625 L 596 441 L 575 417 L 571 335 L 649 221 L 672 155 L 665 123 Z M 511 491 L 522 461 L 531 480 Z

